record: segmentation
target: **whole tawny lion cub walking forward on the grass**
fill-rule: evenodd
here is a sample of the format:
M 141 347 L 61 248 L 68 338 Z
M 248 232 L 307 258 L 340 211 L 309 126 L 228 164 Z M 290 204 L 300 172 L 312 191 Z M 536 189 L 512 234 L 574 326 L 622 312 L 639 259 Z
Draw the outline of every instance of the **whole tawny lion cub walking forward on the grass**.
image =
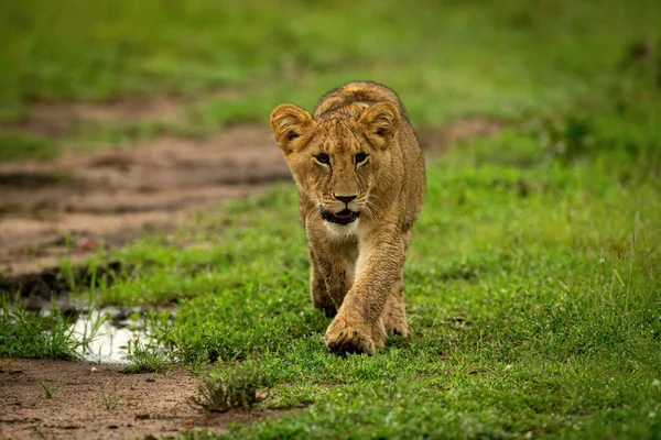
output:
M 271 131 L 299 187 L 312 304 L 335 319 L 335 352 L 375 353 L 409 334 L 403 265 L 424 197 L 424 160 L 399 97 L 375 82 L 325 95 L 311 117 L 291 103 Z

